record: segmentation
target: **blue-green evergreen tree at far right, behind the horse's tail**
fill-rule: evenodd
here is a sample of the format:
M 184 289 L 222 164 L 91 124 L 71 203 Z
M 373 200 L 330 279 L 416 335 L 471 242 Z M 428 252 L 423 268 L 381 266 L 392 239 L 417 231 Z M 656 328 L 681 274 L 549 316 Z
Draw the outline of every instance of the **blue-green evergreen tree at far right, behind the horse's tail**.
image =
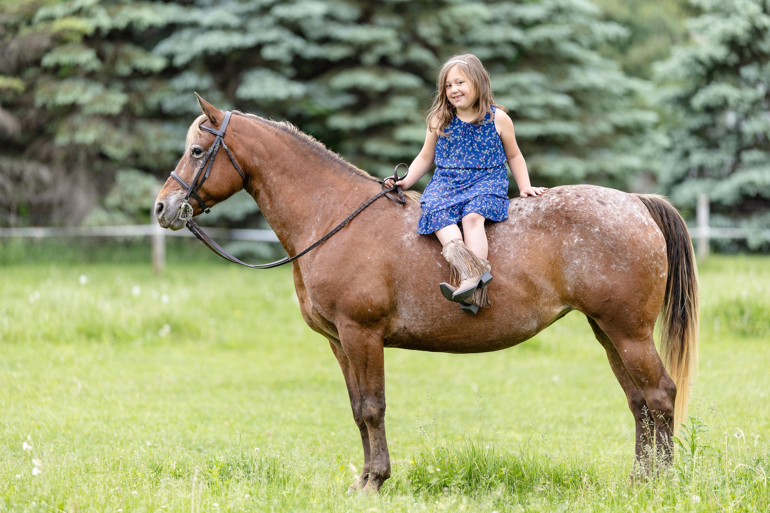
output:
M 691 43 L 656 69 L 671 115 L 661 185 L 679 208 L 708 195 L 712 225 L 770 227 L 770 5 L 694 4 Z

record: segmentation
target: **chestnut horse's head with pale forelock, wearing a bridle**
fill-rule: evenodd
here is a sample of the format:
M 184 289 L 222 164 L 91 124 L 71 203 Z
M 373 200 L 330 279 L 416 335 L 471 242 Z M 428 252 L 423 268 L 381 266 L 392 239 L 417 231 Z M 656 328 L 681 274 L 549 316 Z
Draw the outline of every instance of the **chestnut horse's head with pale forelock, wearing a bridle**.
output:
M 184 228 L 187 218 L 226 200 L 246 184 L 242 167 L 227 155 L 236 155 L 238 138 L 234 125 L 241 118 L 230 118 L 229 113 L 215 108 L 197 93 L 196 98 L 203 115 L 190 125 L 185 154 L 160 189 L 155 203 L 159 224 L 172 230 Z M 222 139 L 216 132 L 225 132 L 219 148 L 216 142 Z

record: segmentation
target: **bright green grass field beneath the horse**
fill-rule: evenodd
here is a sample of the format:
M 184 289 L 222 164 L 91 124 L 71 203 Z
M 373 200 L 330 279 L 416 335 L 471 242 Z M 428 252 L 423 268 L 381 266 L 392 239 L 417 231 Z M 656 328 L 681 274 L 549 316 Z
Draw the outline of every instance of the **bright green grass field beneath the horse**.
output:
M 0 511 L 768 511 L 770 258 L 700 271 L 698 434 L 657 478 L 629 478 L 574 312 L 506 351 L 387 349 L 393 477 L 348 497 L 360 439 L 288 268 L 0 267 Z

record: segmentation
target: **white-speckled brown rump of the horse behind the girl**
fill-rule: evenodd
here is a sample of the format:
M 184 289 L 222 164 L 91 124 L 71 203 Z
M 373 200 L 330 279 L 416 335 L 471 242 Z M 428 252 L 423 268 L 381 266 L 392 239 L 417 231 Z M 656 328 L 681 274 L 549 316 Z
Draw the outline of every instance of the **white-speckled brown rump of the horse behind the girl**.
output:
M 626 297 L 662 298 L 665 238 L 636 195 L 595 185 L 565 185 L 511 201 L 510 218 L 490 231 L 490 249 L 519 275 L 565 306 L 591 315 Z

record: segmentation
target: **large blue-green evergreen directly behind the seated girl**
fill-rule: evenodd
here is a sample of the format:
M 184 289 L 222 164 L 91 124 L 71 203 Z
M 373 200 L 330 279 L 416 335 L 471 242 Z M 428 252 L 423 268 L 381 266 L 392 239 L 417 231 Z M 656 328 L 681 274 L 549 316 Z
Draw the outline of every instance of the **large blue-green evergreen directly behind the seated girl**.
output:
M 206 13 L 156 52 L 377 175 L 417 155 L 437 68 L 466 50 L 511 109 L 537 183 L 629 188 L 647 168 L 656 116 L 640 106 L 644 84 L 598 53 L 624 29 L 588 2 L 246 0 Z

